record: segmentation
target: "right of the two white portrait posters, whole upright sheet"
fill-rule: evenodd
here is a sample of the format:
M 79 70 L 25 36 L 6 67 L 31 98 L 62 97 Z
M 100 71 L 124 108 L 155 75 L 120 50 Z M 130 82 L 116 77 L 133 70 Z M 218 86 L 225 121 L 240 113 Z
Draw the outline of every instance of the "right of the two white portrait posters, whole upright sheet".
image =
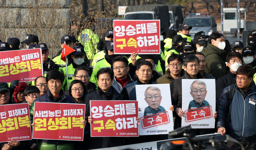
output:
M 214 128 L 215 79 L 182 79 L 181 127 Z

